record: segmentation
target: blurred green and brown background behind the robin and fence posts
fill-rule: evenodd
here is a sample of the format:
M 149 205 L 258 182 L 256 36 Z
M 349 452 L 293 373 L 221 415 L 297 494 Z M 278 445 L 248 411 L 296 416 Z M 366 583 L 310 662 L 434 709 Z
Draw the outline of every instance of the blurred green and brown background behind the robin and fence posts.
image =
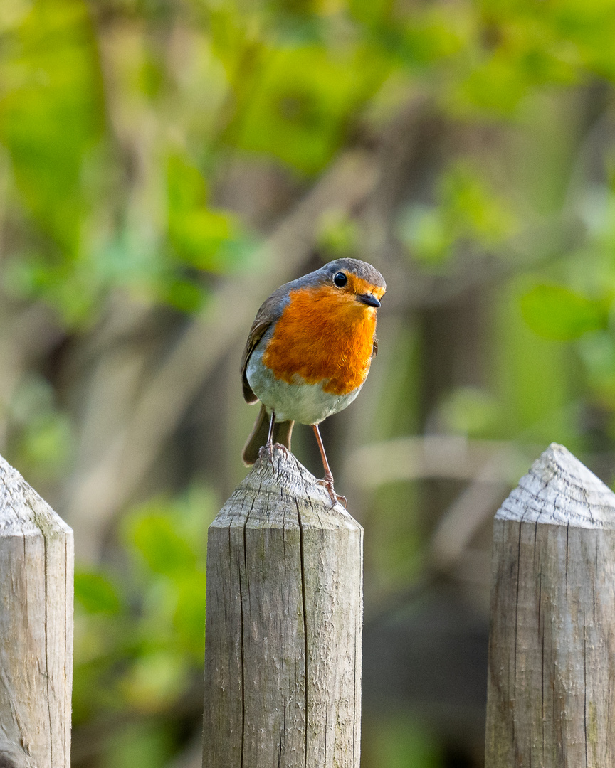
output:
M 481 766 L 490 520 L 551 441 L 613 480 L 613 40 L 613 0 L 0 2 L 0 452 L 75 529 L 75 768 L 200 766 L 241 350 L 340 256 L 388 285 L 323 427 L 362 766 Z

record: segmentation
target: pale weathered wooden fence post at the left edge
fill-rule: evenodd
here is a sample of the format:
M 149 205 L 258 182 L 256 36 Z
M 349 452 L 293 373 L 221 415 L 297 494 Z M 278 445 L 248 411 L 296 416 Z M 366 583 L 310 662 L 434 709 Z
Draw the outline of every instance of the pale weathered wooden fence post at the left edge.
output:
M 68 768 L 72 531 L 0 456 L 0 766 Z

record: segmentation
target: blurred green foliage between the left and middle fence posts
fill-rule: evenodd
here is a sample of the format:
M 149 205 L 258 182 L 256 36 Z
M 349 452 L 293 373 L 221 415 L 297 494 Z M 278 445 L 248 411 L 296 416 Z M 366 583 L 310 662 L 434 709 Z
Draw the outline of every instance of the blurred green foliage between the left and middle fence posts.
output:
M 130 764 L 163 765 L 175 708 L 200 694 L 206 531 L 217 508 L 202 488 L 153 499 L 123 520 L 121 564 L 75 573 L 75 725 L 131 712 L 105 765 L 128 765 L 134 750 L 142 755 Z

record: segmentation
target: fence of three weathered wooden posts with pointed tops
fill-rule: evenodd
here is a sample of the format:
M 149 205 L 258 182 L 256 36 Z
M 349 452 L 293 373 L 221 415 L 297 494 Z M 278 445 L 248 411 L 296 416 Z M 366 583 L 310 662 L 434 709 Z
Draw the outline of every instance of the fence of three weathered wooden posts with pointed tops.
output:
M 358 768 L 363 531 L 292 456 L 208 538 L 204 768 Z M 72 535 L 0 458 L 0 768 L 68 768 Z M 560 445 L 494 521 L 487 768 L 615 765 L 615 494 Z

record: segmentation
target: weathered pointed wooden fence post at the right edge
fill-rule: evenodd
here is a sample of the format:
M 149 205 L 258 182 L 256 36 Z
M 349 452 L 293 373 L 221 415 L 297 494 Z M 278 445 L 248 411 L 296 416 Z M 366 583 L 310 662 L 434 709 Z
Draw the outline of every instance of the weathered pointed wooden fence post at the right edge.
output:
M 615 494 L 552 444 L 494 521 L 487 768 L 615 766 Z

